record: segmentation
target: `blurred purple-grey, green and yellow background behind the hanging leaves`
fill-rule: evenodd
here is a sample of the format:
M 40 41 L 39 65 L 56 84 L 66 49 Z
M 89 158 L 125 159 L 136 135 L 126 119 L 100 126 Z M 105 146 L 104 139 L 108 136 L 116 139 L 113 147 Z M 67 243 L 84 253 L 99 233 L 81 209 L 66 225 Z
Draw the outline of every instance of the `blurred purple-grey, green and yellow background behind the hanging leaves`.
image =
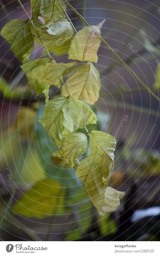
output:
M 106 19 L 101 29 L 104 40 L 159 96 L 159 1 L 69 2 L 91 25 Z M 18 6 L 17 1 L 0 0 L 1 29 L 11 19 L 27 19 Z M 25 9 L 32 17 L 29 4 Z M 77 30 L 85 26 L 73 11 L 67 13 Z M 12 60 L 0 79 L 0 239 L 158 241 L 159 101 L 101 43 L 95 65 L 101 76 L 101 90 L 92 107 L 98 124 L 88 126 L 88 130 L 116 137 L 115 168 L 109 185 L 126 195 L 115 212 L 99 216 L 74 169 L 60 168 L 50 159 L 56 147 L 38 122 L 43 116 L 44 96 L 36 96 L 27 84 L 21 63 L 2 36 L 0 43 L 0 73 Z M 49 49 L 56 62 L 68 62 L 69 45 L 70 40 Z M 40 57 L 46 57 L 44 49 L 35 44 L 30 60 Z M 49 95 L 55 91 L 52 86 Z

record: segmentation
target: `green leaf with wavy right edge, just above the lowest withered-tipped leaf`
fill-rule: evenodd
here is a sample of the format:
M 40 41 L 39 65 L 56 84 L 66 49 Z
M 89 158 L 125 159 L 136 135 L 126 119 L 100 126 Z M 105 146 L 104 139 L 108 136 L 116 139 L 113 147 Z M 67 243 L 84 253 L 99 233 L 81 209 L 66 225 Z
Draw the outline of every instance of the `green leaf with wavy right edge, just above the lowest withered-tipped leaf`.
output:
M 105 171 L 104 180 L 108 184 L 114 168 L 114 151 L 116 139 L 102 131 L 91 131 L 90 153 L 97 165 Z

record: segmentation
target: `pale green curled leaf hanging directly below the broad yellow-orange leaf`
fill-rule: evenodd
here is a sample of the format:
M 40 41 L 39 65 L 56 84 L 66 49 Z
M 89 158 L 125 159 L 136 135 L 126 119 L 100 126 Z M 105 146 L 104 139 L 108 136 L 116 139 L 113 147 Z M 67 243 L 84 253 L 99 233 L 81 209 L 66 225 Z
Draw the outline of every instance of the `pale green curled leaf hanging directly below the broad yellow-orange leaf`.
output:
M 70 133 L 89 124 L 96 124 L 97 117 L 95 113 L 84 101 L 77 100 L 71 94 L 68 99 L 63 106 L 63 126 Z

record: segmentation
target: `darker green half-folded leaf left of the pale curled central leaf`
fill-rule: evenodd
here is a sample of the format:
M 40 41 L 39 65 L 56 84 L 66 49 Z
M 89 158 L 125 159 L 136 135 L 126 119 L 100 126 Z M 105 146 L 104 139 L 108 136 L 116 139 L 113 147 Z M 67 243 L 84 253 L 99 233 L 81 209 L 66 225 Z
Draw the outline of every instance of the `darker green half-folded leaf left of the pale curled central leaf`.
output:
M 48 135 L 53 139 L 57 147 L 61 146 L 62 131 L 64 129 L 62 107 L 67 101 L 65 97 L 56 97 L 50 100 L 44 107 L 44 116 L 39 122 L 45 127 Z

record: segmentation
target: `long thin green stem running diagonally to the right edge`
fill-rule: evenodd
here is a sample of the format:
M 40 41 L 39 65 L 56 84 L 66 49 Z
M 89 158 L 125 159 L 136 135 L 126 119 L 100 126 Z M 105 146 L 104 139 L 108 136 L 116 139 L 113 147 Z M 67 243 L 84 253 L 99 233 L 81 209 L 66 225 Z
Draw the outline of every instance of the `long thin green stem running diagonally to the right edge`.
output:
M 66 5 L 68 5 L 68 6 L 71 8 L 72 11 L 75 12 L 75 14 L 77 14 L 77 16 L 78 16 L 87 26 L 89 26 L 89 23 L 82 17 L 82 15 L 79 14 L 79 12 L 77 12 L 77 11 L 74 9 L 74 7 L 73 7 L 72 5 L 70 5 L 70 4 L 68 3 L 68 1 L 64 0 L 64 2 L 66 3 Z M 133 76 L 146 88 L 146 90 L 147 90 L 153 97 L 155 97 L 156 100 L 159 100 L 159 101 L 160 101 L 159 97 L 156 96 L 156 95 L 146 86 L 146 84 L 143 83 L 143 81 L 134 73 L 134 71 L 133 71 L 131 68 L 129 68 L 129 66 L 119 57 L 119 55 L 118 55 L 116 52 L 114 52 L 114 50 L 110 47 L 110 45 L 109 45 L 102 37 L 101 37 L 101 41 L 108 47 L 108 49 L 110 49 L 110 51 L 116 56 L 116 58 L 119 59 L 119 61 L 128 69 L 128 71 L 130 71 L 131 74 L 133 74 Z

